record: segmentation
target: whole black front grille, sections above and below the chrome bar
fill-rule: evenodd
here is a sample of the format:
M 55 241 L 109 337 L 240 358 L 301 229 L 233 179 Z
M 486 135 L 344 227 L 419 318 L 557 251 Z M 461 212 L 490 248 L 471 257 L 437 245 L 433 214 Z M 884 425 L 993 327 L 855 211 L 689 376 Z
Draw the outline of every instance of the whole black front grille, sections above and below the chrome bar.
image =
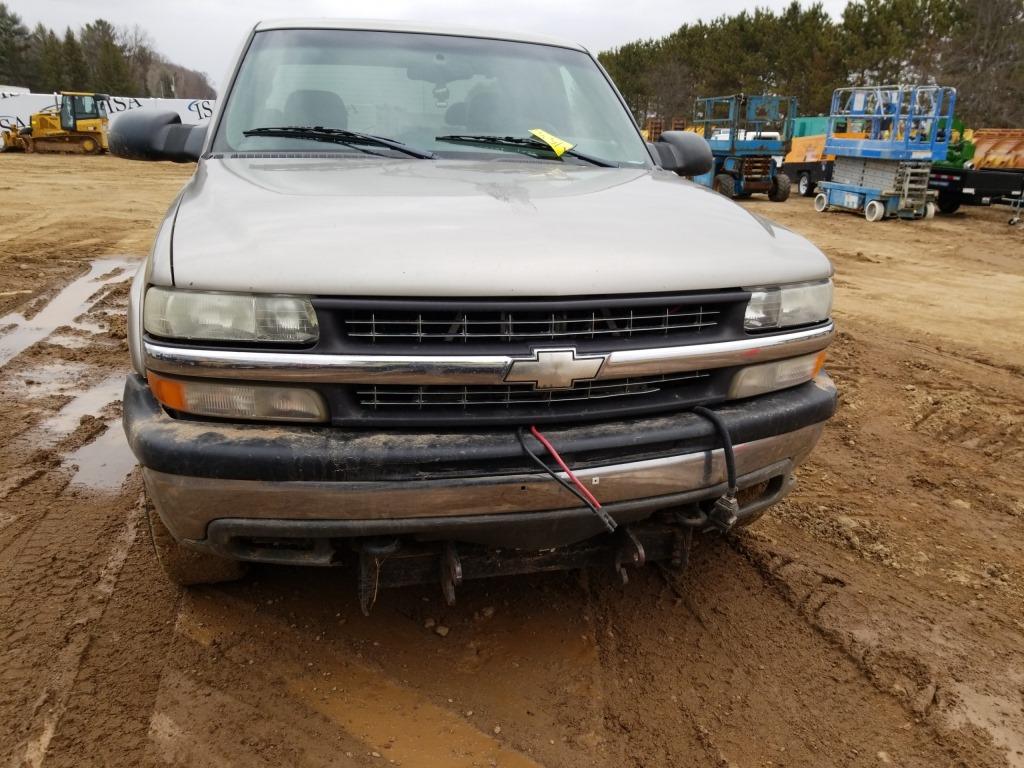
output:
M 683 258 L 683 257 L 680 257 Z M 549 298 L 313 298 L 321 354 L 503 355 L 545 349 L 580 355 L 711 344 L 746 338 L 741 290 Z M 385 380 L 318 387 L 337 425 L 461 427 L 583 423 L 667 413 L 725 399 L 732 371 L 581 381 L 568 389 L 528 383 L 463 386 Z

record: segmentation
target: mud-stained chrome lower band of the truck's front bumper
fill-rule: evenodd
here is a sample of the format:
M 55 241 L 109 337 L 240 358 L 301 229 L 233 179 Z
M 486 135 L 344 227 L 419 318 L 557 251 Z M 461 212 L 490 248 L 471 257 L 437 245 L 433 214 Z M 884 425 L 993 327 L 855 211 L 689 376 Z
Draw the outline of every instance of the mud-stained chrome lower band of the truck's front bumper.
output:
M 736 474 L 777 462 L 796 466 L 817 443 L 824 423 L 739 443 Z M 224 480 L 165 474 L 143 468 L 151 499 L 178 539 L 202 540 L 212 520 L 380 520 L 443 518 L 569 509 L 579 502 L 543 473 L 408 481 Z M 725 480 L 722 451 L 613 464 L 577 472 L 604 504 L 667 497 Z

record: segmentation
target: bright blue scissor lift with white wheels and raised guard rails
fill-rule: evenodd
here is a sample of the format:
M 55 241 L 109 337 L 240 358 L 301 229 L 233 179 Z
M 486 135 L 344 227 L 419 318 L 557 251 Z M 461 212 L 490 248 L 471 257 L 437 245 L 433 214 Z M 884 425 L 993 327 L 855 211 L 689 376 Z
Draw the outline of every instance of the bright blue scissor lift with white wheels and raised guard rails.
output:
M 932 162 L 945 160 L 955 103 L 956 90 L 941 85 L 837 89 L 824 150 L 836 162 L 814 209 L 855 211 L 868 221 L 934 216 L 928 179 Z

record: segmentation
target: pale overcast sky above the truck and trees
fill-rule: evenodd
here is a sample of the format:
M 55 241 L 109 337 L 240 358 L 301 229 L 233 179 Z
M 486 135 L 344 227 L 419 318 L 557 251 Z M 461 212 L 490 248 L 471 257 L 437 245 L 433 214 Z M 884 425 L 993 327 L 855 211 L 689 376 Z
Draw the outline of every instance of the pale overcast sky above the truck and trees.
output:
M 397 18 L 536 32 L 583 43 L 593 51 L 639 38 L 662 37 L 686 22 L 735 13 L 755 5 L 781 8 L 790 0 L 4 0 L 28 27 L 42 22 L 62 33 L 103 17 L 138 25 L 175 63 L 201 70 L 217 86 L 254 23 L 282 16 Z M 833 14 L 847 0 L 823 0 Z

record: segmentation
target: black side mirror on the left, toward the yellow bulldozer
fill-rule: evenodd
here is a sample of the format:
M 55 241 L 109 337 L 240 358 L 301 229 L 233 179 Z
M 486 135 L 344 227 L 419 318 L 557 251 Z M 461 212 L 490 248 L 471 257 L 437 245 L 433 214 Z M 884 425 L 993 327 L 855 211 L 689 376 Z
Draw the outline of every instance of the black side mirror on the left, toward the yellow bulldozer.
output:
M 183 125 L 176 112 L 120 115 L 111 126 L 111 153 L 128 160 L 195 163 L 206 139 L 205 125 Z

